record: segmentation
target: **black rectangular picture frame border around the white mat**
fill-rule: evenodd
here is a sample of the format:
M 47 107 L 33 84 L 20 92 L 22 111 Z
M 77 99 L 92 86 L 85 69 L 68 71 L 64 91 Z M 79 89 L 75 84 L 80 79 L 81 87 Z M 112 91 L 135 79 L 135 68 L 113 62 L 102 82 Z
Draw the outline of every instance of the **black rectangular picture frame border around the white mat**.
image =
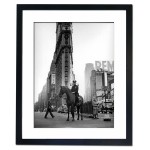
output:
M 126 11 L 126 139 L 23 139 L 22 138 L 22 30 L 24 10 Z M 16 144 L 17 145 L 132 145 L 132 5 L 17 5 Z

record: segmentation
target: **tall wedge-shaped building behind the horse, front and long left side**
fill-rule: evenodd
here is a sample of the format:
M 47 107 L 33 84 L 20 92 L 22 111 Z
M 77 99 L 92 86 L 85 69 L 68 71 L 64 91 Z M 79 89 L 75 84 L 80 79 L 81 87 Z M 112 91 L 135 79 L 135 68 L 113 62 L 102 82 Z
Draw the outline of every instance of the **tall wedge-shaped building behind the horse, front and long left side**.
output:
M 62 22 L 56 24 L 56 49 L 47 78 L 47 94 L 48 98 L 51 97 L 58 107 L 65 104 L 66 98 L 64 95 L 62 100 L 59 100 L 60 86 L 71 88 L 71 83 L 75 79 L 73 73 L 72 31 L 72 23 Z M 55 76 L 54 83 L 53 75 Z

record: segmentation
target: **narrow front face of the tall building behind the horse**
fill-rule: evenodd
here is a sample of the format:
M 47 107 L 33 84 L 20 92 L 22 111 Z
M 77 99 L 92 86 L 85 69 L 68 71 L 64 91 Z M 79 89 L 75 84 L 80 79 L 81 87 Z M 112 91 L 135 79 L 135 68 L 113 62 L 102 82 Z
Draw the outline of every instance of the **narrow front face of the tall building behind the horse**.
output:
M 73 46 L 72 46 L 72 23 L 60 22 L 56 24 L 56 94 L 59 93 L 60 86 L 70 88 L 74 80 L 73 74 Z

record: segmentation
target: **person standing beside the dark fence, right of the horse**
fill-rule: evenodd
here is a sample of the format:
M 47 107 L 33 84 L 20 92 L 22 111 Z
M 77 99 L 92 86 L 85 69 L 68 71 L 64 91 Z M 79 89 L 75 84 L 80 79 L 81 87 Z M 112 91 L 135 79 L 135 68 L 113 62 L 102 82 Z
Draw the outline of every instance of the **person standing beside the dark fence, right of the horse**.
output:
M 98 119 L 98 101 L 96 96 L 92 99 L 92 106 L 93 106 L 93 118 Z

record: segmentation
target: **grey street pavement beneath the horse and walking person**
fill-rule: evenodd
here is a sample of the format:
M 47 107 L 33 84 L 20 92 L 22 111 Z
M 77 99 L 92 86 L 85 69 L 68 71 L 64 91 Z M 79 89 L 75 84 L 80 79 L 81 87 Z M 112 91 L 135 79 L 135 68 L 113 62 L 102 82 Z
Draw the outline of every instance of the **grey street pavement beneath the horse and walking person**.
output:
M 99 119 L 89 118 L 84 115 L 83 120 L 72 121 L 71 114 L 69 115 L 70 121 L 66 121 L 66 113 L 53 112 L 54 118 L 49 114 L 47 119 L 44 118 L 45 112 L 34 112 L 34 127 L 35 128 L 113 128 L 114 115 L 110 114 L 111 121 L 103 121 L 104 114 L 99 114 Z

